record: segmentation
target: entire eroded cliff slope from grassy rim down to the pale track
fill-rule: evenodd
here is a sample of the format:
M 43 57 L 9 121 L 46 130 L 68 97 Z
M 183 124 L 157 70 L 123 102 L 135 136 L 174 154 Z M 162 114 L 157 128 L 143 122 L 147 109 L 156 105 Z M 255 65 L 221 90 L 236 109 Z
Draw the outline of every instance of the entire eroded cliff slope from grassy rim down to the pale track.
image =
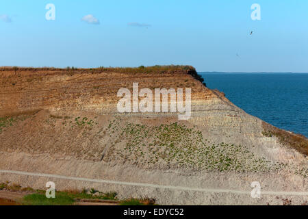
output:
M 246 114 L 206 88 L 191 66 L 1 68 L 0 78 L 0 169 L 195 186 L 219 173 L 220 188 L 245 187 L 254 176 L 269 189 L 307 190 L 307 138 Z M 117 92 L 133 83 L 153 91 L 191 88 L 191 118 L 120 114 Z

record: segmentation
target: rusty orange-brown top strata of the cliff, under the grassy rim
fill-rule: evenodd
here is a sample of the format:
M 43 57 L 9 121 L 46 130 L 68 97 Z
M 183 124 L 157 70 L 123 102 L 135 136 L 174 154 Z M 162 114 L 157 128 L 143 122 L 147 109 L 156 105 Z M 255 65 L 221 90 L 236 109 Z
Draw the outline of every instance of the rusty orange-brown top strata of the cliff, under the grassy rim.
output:
M 27 69 L 1 71 L 1 114 L 31 110 L 84 110 L 98 114 L 115 114 L 120 88 L 192 88 L 192 101 L 218 99 L 219 94 L 205 88 L 192 76 L 194 68 L 170 68 L 148 73 L 101 69 Z

